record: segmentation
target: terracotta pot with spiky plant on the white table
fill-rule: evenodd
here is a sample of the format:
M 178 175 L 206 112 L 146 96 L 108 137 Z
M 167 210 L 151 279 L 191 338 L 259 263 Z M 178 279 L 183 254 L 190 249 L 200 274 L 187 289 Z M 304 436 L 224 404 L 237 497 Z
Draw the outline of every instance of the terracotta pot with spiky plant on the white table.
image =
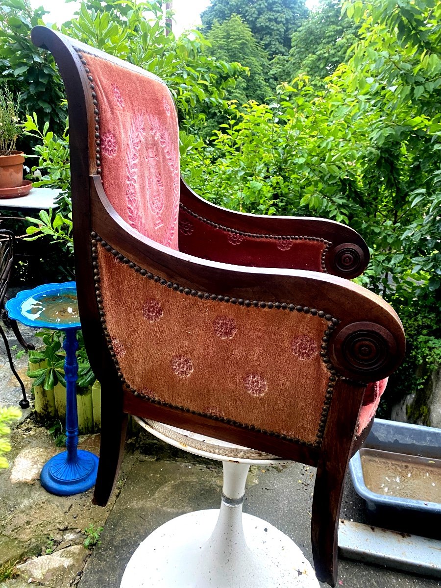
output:
M 21 132 L 19 102 L 19 96 L 14 101 L 8 86 L 0 88 L 0 198 L 25 196 L 32 188 L 32 182 L 23 181 L 23 152 L 15 150 Z

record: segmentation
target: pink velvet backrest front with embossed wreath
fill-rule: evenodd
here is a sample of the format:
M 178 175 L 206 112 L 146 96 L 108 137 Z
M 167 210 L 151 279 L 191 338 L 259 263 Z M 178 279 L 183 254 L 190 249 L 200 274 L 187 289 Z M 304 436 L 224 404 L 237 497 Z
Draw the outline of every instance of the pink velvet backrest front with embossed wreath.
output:
M 179 131 L 159 78 L 81 53 L 96 94 L 101 177 L 116 212 L 139 233 L 178 249 Z

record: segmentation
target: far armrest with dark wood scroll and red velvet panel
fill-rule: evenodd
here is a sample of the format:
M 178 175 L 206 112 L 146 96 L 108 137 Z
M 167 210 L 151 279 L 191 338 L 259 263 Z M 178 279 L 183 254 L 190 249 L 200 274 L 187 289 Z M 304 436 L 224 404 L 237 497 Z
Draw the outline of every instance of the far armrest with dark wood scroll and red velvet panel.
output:
M 250 215 L 203 200 L 181 178 L 179 250 L 213 261 L 356 278 L 369 263 L 360 235 L 333 220 Z

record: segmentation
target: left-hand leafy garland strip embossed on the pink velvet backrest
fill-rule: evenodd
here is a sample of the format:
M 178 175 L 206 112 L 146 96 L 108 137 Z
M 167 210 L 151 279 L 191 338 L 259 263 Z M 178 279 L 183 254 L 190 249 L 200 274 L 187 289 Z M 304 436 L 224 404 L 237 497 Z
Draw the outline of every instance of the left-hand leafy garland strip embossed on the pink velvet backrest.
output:
M 143 219 L 139 210 L 138 195 L 138 162 L 139 149 L 145 136 L 145 126 L 142 114 L 132 117 L 129 129 L 129 144 L 126 156 L 126 201 L 129 225 L 139 232 L 143 230 Z

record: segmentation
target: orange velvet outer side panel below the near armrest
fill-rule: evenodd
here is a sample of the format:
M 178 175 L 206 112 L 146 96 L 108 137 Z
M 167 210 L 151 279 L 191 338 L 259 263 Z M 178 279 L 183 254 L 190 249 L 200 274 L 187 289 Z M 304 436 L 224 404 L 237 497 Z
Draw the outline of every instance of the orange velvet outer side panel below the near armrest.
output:
M 112 353 L 133 392 L 320 443 L 335 382 L 320 355 L 329 320 L 191 295 L 103 248 L 98 264 Z

